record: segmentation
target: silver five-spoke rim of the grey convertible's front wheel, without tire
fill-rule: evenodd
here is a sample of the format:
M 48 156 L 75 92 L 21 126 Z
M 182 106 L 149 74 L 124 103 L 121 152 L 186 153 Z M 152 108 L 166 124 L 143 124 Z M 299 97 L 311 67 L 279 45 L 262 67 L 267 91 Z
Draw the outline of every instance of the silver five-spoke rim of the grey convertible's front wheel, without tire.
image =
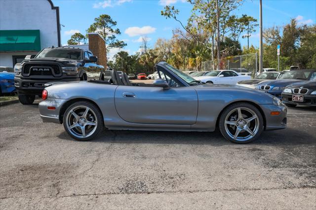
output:
M 237 107 L 225 118 L 225 131 L 232 139 L 246 141 L 253 138 L 259 131 L 260 121 L 253 110 Z

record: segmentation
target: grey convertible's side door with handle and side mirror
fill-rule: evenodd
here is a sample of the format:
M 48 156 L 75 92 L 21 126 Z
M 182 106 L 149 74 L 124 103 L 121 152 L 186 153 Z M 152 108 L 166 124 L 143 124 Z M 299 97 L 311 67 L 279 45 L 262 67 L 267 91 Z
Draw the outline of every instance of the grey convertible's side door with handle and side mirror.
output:
M 119 116 L 131 123 L 195 124 L 197 92 L 175 81 L 168 83 L 171 86 L 169 89 L 150 85 L 118 86 L 115 106 Z

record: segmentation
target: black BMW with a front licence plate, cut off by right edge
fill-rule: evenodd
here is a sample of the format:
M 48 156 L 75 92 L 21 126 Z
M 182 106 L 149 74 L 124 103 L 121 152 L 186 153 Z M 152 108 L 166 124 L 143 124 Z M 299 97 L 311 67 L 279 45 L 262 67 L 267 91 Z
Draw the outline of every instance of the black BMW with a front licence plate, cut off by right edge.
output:
M 316 76 L 311 81 L 288 85 L 282 92 L 282 101 L 289 107 L 296 105 L 316 106 Z

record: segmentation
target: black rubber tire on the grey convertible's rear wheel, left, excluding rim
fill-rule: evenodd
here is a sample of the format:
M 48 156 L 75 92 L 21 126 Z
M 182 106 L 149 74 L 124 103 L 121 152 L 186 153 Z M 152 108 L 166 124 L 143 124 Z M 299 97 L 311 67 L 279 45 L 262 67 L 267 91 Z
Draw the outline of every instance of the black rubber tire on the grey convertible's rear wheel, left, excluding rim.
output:
M 93 112 L 95 113 L 95 117 L 96 117 L 96 129 L 95 131 L 88 137 L 82 137 L 82 138 L 78 138 L 75 135 L 73 135 L 69 129 L 67 128 L 67 115 L 70 112 L 70 110 L 72 110 L 74 107 L 76 106 L 86 106 L 89 107 L 91 110 L 93 110 Z M 87 141 L 87 140 L 92 140 L 94 138 L 96 138 L 100 132 L 102 131 L 103 127 L 104 127 L 104 122 L 103 122 L 103 116 L 101 114 L 101 111 L 99 110 L 99 108 L 90 103 L 90 102 L 85 102 L 85 101 L 79 101 L 79 102 L 75 102 L 72 105 L 69 105 L 68 108 L 66 109 L 65 113 L 64 113 L 64 117 L 63 117 L 63 125 L 64 125 L 64 129 L 65 131 L 74 139 L 79 140 L 79 141 Z

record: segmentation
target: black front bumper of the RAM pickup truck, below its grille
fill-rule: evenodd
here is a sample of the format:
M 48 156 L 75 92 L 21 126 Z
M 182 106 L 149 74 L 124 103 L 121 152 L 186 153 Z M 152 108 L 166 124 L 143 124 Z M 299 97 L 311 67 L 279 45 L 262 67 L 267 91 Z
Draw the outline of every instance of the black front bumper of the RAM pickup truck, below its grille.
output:
M 79 80 L 79 77 L 64 77 L 49 80 L 14 77 L 14 85 L 19 94 L 41 95 L 41 92 L 45 88 L 44 84 L 47 82 L 69 82 Z

